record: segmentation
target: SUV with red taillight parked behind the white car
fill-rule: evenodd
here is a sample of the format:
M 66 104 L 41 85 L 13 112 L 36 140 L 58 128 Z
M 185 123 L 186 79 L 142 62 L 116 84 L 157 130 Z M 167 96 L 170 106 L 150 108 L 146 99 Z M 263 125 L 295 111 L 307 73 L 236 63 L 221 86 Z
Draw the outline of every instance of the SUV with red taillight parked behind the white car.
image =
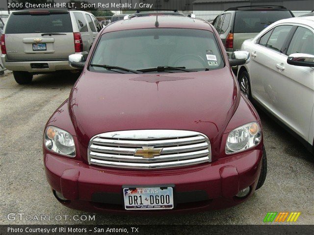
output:
M 239 50 L 244 40 L 254 38 L 268 25 L 293 17 L 283 6 L 252 5 L 227 9 L 218 15 L 213 25 L 224 43 L 228 56 Z

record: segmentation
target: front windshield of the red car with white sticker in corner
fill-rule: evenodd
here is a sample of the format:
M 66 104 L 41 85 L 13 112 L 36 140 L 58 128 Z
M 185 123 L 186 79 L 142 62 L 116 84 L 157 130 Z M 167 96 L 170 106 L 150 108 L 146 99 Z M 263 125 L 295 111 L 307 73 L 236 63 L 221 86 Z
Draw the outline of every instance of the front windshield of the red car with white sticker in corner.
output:
M 182 28 L 147 28 L 105 33 L 90 64 L 117 66 L 133 71 L 163 66 L 205 71 L 224 66 L 212 32 Z M 105 68 L 90 67 L 90 70 L 105 71 Z M 172 68 L 171 72 L 183 71 Z

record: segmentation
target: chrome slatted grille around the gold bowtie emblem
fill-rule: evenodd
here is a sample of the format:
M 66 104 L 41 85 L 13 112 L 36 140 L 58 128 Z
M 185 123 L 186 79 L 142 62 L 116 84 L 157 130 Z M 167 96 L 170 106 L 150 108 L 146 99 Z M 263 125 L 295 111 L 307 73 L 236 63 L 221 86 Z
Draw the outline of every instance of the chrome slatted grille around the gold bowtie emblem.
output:
M 136 149 L 162 149 L 160 155 L 134 156 Z M 88 145 L 88 163 L 121 168 L 166 168 L 211 161 L 209 139 L 183 130 L 130 130 L 94 136 Z

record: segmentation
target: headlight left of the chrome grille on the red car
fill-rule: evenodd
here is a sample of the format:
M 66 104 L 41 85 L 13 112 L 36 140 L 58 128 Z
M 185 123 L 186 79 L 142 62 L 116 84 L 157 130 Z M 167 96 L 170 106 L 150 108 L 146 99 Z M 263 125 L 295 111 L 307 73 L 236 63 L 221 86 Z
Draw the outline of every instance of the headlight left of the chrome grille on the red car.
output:
M 75 157 L 75 144 L 72 135 L 60 128 L 49 126 L 45 131 L 45 146 L 58 154 Z

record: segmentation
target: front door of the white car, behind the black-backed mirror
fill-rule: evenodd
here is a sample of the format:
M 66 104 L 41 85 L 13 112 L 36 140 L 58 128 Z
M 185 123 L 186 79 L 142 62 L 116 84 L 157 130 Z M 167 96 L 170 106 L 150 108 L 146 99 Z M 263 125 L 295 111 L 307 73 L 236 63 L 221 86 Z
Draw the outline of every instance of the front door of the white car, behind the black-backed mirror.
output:
M 308 141 L 314 106 L 314 69 L 289 65 L 287 59 L 293 53 L 314 55 L 314 29 L 303 25 L 292 32 L 291 42 L 283 48 L 283 53 L 269 54 L 272 70 L 271 76 L 265 79 L 266 92 L 270 97 L 269 109 Z

